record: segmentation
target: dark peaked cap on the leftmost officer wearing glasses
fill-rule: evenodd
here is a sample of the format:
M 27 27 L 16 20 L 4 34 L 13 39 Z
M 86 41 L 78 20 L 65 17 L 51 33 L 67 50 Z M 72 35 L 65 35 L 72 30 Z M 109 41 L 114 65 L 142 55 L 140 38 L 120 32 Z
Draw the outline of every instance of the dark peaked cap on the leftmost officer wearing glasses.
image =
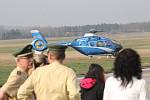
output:
M 15 57 L 26 57 L 26 56 L 30 56 L 30 55 L 33 55 L 31 44 L 26 45 L 22 49 L 18 49 L 17 52 L 15 52 L 13 54 L 13 56 L 15 56 Z

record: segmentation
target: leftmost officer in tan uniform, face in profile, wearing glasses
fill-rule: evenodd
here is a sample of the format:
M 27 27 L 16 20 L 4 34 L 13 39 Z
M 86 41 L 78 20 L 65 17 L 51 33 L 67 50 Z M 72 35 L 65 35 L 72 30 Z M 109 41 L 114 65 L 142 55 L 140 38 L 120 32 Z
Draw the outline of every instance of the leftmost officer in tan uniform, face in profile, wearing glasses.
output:
M 0 100 L 18 100 L 17 92 L 28 77 L 28 70 L 32 68 L 32 46 L 27 45 L 13 54 L 16 68 L 11 72 L 7 82 L 0 88 Z

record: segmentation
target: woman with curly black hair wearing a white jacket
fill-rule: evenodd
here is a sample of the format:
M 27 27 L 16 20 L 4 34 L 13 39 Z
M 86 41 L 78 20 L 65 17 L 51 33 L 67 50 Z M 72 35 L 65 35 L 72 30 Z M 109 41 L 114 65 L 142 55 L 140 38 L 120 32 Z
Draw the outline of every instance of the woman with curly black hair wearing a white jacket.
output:
M 104 100 L 148 100 L 139 54 L 122 50 L 114 61 L 113 76 L 106 80 Z

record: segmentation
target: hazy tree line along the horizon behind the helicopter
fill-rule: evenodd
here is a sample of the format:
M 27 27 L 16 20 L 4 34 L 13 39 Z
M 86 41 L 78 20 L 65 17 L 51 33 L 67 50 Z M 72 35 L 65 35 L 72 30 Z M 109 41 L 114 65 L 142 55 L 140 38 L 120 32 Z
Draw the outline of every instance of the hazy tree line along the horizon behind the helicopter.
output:
M 46 37 L 81 36 L 90 29 L 96 29 L 106 33 L 120 32 L 150 32 L 150 22 L 129 24 L 97 24 L 84 26 L 61 26 L 61 27 L 11 27 L 0 26 L 0 40 L 31 38 L 30 30 L 38 29 Z

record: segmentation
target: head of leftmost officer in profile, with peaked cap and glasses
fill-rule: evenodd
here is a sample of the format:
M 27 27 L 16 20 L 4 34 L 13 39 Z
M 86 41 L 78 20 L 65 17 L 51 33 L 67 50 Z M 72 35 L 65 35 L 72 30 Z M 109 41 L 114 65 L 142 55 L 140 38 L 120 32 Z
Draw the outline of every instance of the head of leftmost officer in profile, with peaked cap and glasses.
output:
M 32 45 L 27 45 L 22 49 L 19 49 L 15 52 L 14 57 L 16 58 L 17 67 L 20 67 L 22 70 L 28 72 L 33 66 L 33 52 Z

